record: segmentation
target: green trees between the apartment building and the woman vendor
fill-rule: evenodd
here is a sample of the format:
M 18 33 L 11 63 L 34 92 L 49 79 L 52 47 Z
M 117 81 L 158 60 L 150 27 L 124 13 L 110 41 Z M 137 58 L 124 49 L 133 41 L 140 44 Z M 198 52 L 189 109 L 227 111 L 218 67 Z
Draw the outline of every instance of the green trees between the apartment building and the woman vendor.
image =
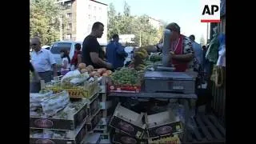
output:
M 141 40 L 142 46 L 153 45 L 158 43 L 162 32 L 158 32 L 149 23 L 149 17 L 145 14 L 142 16 L 132 16 L 130 6 L 125 2 L 123 14 L 116 14 L 114 5 L 110 3 L 108 11 L 108 38 L 113 34 L 134 34 L 134 42 L 139 45 Z

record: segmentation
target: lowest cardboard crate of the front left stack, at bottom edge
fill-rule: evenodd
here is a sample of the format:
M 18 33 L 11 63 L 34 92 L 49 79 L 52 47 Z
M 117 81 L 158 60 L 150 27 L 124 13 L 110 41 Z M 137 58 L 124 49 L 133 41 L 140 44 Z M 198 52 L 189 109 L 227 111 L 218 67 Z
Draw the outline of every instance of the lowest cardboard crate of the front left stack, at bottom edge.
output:
M 82 139 L 86 136 L 86 122 L 83 122 L 80 126 L 78 126 L 77 129 L 71 130 L 70 132 L 74 133 L 73 138 L 33 138 L 30 136 L 30 143 L 31 144 L 38 144 L 38 143 L 77 144 L 77 143 L 80 143 L 82 142 Z

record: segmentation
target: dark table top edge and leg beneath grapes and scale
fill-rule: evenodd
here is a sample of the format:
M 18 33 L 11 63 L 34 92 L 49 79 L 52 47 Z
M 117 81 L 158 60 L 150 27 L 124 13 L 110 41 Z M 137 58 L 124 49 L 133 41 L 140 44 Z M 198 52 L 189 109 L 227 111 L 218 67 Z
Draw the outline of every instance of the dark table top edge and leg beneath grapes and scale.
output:
M 189 119 L 189 101 L 190 99 L 196 100 L 198 96 L 196 94 L 175 94 L 175 93 L 146 93 L 144 91 L 140 93 L 109 93 L 109 97 L 126 97 L 126 98 L 177 98 L 182 99 L 182 104 L 185 109 L 185 122 L 188 122 Z M 183 142 L 186 142 L 187 139 L 187 126 L 184 127 L 184 137 L 182 138 Z

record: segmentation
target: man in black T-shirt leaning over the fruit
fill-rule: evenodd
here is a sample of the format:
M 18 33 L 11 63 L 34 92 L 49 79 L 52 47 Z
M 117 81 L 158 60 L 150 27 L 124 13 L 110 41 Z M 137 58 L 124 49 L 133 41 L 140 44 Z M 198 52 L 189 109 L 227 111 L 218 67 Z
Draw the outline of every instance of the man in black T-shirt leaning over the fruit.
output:
M 94 66 L 95 69 L 107 68 L 112 69 L 109 62 L 104 62 L 102 48 L 98 44 L 97 38 L 102 38 L 104 25 L 101 22 L 95 22 L 91 33 L 82 42 L 82 62 L 86 65 Z

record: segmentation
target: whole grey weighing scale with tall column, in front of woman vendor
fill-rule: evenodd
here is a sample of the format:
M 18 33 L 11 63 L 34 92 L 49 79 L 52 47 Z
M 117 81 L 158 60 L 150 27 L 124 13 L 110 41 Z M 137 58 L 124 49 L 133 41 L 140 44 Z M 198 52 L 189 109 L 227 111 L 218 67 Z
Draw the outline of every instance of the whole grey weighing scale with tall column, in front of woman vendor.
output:
M 170 92 L 182 94 L 194 94 L 195 78 L 186 72 L 174 72 L 170 58 L 170 30 L 164 31 L 162 48 L 162 65 L 154 66 L 154 71 L 146 71 L 145 92 Z

